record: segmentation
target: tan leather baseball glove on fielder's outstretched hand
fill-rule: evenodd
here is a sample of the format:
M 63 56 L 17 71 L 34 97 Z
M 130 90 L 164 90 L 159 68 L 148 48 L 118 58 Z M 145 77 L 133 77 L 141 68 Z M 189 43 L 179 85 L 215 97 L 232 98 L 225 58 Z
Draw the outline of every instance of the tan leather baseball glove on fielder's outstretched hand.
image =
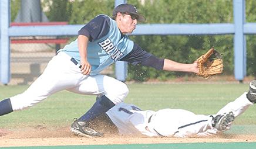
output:
M 207 53 L 197 58 L 198 76 L 208 79 L 212 75 L 223 72 L 223 60 L 220 54 L 211 48 Z

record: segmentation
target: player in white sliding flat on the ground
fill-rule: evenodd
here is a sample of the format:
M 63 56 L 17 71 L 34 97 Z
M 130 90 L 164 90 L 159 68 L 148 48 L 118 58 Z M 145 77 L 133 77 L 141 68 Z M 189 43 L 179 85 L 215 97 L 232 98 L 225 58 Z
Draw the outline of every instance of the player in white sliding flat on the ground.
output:
M 141 110 L 135 105 L 119 103 L 106 112 L 120 134 L 191 137 L 211 136 L 230 129 L 231 122 L 256 103 L 256 80 L 248 93 L 228 103 L 215 115 L 196 115 L 183 109 Z

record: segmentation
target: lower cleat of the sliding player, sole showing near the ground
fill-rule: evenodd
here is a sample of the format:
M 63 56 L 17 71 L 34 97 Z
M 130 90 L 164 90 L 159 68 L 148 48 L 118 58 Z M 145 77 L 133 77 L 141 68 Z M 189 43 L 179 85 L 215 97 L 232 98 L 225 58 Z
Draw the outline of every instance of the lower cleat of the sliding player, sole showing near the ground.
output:
M 217 115 L 213 117 L 213 123 L 211 123 L 211 125 L 217 130 L 224 131 L 227 128 L 228 124 L 233 122 L 234 119 L 235 116 L 233 112 L 224 113 L 223 115 Z

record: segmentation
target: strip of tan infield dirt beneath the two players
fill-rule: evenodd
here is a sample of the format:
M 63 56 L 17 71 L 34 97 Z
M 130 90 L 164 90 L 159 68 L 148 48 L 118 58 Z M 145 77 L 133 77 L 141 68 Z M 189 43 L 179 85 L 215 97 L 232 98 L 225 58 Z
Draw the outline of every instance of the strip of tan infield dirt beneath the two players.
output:
M 154 143 L 228 143 L 256 142 L 256 135 L 222 135 L 210 138 L 172 138 L 145 136 L 118 136 L 106 134 L 101 138 L 74 136 L 69 127 L 0 130 L 0 147 L 44 145 L 99 145 L 99 144 L 154 144 Z

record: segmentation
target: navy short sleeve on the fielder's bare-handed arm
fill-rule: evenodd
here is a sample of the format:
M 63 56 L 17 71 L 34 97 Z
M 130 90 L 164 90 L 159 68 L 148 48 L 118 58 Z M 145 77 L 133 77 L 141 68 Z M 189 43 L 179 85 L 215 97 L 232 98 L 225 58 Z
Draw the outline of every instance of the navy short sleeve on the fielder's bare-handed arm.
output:
M 85 35 L 89 38 L 89 41 L 94 41 L 105 36 L 109 32 L 110 18 L 105 15 L 99 15 L 90 20 L 85 26 L 83 26 L 78 34 Z

